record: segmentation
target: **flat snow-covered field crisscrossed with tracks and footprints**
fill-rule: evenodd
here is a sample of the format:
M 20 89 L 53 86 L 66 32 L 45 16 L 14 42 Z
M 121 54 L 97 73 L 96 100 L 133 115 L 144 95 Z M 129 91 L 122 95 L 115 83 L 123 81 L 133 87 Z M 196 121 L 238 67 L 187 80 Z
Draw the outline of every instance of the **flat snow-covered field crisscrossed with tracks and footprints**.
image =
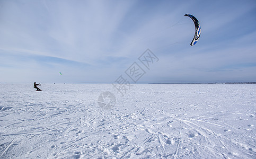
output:
M 255 84 L 0 84 L 0 158 L 256 158 Z M 104 91 L 117 99 L 99 107 Z

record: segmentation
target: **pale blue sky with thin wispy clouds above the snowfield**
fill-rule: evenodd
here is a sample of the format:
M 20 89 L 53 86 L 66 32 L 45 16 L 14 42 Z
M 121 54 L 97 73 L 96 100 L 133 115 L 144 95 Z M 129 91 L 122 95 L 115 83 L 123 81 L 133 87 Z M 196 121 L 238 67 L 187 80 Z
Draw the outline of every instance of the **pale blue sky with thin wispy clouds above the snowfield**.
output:
M 0 82 L 113 83 L 146 49 L 159 60 L 139 83 L 256 82 L 255 14 L 254 0 L 1 0 Z

